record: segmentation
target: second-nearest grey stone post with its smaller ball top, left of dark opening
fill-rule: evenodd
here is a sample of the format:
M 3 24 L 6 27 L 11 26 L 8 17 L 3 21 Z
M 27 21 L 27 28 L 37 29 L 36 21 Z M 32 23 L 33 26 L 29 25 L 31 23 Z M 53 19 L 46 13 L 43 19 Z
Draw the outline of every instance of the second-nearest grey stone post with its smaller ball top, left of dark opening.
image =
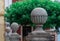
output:
M 19 28 L 19 25 L 17 23 L 12 23 L 11 28 L 13 30 L 13 33 L 9 36 L 10 41 L 20 41 L 20 35 L 16 32 Z

